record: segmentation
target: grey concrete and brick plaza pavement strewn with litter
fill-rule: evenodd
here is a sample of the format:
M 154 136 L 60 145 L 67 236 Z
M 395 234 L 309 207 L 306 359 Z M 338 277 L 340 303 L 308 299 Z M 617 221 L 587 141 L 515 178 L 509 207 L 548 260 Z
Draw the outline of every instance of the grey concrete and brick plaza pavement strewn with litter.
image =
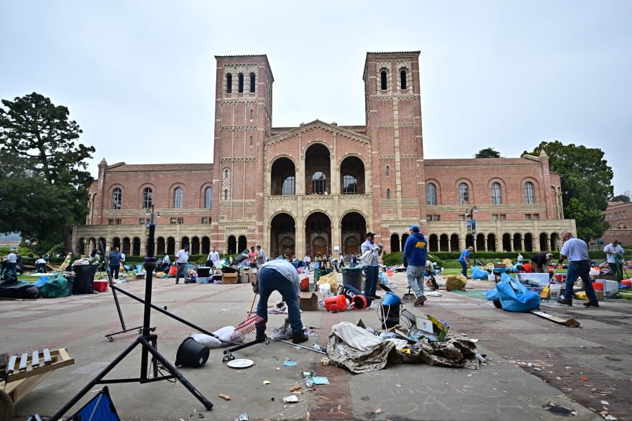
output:
M 407 292 L 404 273 L 393 274 L 391 280 L 397 285 L 395 293 Z M 145 290 L 142 280 L 119 286 L 141 297 Z M 492 286 L 489 281 L 469 281 L 468 291 Z M 323 366 L 322 354 L 272 341 L 235 352 L 236 358 L 254 361 L 251 368 L 229 368 L 222 362 L 220 348 L 211 349 L 211 358 L 202 368 L 181 369 L 213 403 L 210 411 L 178 382 L 110 385 L 112 401 L 124 420 L 237 420 L 242 413 L 249 420 L 565 419 L 547 410 L 549 403 L 573 410 L 574 420 L 602 420 L 599 412 L 604 408 L 618 420 L 632 419 L 632 303 L 607 300 L 598 309 L 586 309 L 581 303 L 574 307 L 543 303 L 543 309 L 581 323 L 580 328 L 568 328 L 533 314 L 504 312 L 472 296 L 441 293 L 442 297 L 429 297 L 423 307 L 406 307 L 444 319 L 457 335 L 478 339 L 478 350 L 488 360 L 479 370 L 389 364 L 383 370 L 354 375 Z M 244 321 L 252 299 L 249 284 L 176 286 L 173 279 L 154 279 L 152 295 L 154 305 L 166 306 L 169 312 L 211 331 Z M 119 300 L 126 325 L 142 324 L 143 306 L 121 294 Z M 270 304 L 277 300 L 280 295 L 272 295 Z M 303 312 L 303 323 L 314 326 L 317 334 L 304 345 L 324 346 L 338 321 L 362 319 L 378 330 L 376 307 L 335 314 L 324 309 Z M 271 314 L 268 333 L 283 320 L 284 316 Z M 194 330 L 156 311 L 151 324 L 157 326 L 159 351 L 175 361 L 178 345 Z M 15 407 L 15 420 L 33 413 L 51 416 L 59 410 L 138 335 L 132 331 L 108 342 L 105 334 L 120 328 L 110 290 L 68 298 L 0 301 L 0 352 L 66 347 L 75 360 L 29 392 Z M 284 366 L 286 359 L 298 365 Z M 283 403 L 283 397 L 292 394 L 292 386 L 305 389 L 301 373 L 308 370 L 327 376 L 331 384 L 303 392 L 298 403 Z M 139 375 L 140 348 L 136 348 L 106 378 Z M 93 387 L 74 409 L 98 389 L 99 385 Z

